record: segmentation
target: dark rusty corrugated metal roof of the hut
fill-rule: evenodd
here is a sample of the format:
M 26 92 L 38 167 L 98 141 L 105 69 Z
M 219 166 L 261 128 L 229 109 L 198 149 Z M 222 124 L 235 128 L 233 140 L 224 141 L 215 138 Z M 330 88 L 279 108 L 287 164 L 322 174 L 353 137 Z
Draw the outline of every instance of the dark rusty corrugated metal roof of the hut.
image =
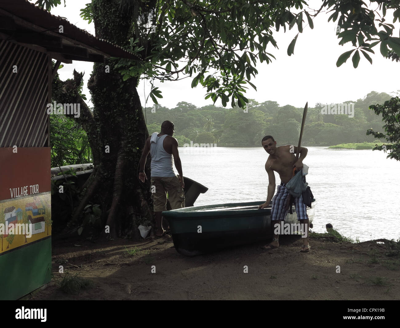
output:
M 36 26 L 40 26 L 47 31 L 57 32 L 60 24 L 62 24 L 64 32 L 59 33 L 60 38 L 70 38 L 76 40 L 86 46 L 99 50 L 99 52 L 108 56 L 138 59 L 131 52 L 124 50 L 121 46 L 111 43 L 110 41 L 97 38 L 85 30 L 82 30 L 71 24 L 65 18 L 50 14 L 45 9 L 28 2 L 28 0 L 1 0 L 0 9 L 25 20 Z

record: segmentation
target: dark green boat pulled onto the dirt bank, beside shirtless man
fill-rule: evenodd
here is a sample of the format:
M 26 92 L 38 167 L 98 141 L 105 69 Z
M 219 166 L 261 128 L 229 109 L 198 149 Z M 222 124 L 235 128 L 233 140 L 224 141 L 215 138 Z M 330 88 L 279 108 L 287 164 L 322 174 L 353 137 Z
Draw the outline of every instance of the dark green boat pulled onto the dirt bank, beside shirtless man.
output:
M 258 209 L 263 202 L 184 207 L 164 211 L 162 215 L 168 220 L 178 253 L 194 256 L 272 237 L 271 207 Z M 315 199 L 311 205 L 307 208 L 310 223 L 314 218 Z M 285 223 L 298 223 L 294 206 L 292 210 Z

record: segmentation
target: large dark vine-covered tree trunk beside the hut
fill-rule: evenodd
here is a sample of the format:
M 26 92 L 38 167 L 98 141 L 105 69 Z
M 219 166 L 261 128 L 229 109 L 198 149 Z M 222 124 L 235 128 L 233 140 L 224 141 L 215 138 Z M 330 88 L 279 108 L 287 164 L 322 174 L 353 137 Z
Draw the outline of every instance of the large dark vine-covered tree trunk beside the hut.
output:
M 92 10 L 96 36 L 122 46 L 130 38 L 132 17 L 121 12 L 119 3 L 93 0 Z M 115 64 L 116 60 L 109 59 L 94 64 L 88 82 L 93 113 L 78 95 L 82 74 L 74 72 L 74 79 L 64 83 L 57 76 L 53 97 L 60 99 L 60 103 L 74 99 L 81 104 L 81 115 L 76 120 L 88 135 L 95 167 L 70 223 L 80 225 L 84 207 L 98 203 L 102 210 L 103 235 L 138 239 L 138 223 L 147 219 L 154 226 L 154 213 L 149 206 L 150 181 L 142 184 L 138 180 L 138 162 L 148 132 L 136 90 L 139 77 L 123 81 L 118 69 L 114 69 Z M 150 161 L 146 165 L 148 176 L 149 166 Z

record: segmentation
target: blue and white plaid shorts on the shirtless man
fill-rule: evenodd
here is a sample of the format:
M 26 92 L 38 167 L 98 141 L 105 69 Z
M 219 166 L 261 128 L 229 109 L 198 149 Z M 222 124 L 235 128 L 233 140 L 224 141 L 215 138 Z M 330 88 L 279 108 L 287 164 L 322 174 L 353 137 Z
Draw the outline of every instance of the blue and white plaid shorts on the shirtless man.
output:
M 289 209 L 286 209 L 286 200 L 289 196 L 289 191 L 286 189 L 286 183 L 281 182 L 278 185 L 278 190 L 272 198 L 271 220 L 284 220 Z M 294 207 L 298 220 L 307 220 L 307 206 L 303 203 L 303 195 L 294 199 Z

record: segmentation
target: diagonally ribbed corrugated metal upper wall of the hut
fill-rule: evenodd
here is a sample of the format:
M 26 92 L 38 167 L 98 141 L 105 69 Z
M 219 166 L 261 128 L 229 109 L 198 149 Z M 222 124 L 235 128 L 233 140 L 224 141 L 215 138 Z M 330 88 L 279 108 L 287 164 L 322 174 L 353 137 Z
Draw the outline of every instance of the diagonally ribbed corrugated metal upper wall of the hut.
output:
M 47 54 L 0 40 L 0 147 L 50 146 L 48 65 Z

